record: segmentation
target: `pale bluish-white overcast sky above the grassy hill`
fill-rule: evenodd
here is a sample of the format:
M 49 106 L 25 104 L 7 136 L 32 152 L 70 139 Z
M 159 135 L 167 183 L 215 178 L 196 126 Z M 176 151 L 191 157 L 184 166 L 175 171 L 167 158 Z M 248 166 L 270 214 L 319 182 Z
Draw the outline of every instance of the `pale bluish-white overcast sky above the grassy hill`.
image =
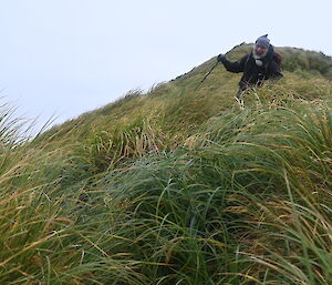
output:
M 264 33 L 332 55 L 331 2 L 0 0 L 2 101 L 63 122 Z

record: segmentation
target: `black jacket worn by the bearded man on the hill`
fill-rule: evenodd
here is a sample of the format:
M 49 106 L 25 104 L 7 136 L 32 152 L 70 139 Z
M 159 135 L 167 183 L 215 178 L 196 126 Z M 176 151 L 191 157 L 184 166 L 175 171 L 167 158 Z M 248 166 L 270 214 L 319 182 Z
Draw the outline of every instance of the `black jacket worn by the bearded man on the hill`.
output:
M 273 60 L 274 49 L 270 45 L 267 55 L 262 59 L 262 67 L 256 64 L 252 52 L 245 55 L 236 62 L 230 62 L 224 59 L 225 68 L 234 73 L 243 72 L 239 82 L 240 90 L 246 90 L 248 86 L 261 85 L 266 80 L 278 80 L 282 78 L 279 64 Z

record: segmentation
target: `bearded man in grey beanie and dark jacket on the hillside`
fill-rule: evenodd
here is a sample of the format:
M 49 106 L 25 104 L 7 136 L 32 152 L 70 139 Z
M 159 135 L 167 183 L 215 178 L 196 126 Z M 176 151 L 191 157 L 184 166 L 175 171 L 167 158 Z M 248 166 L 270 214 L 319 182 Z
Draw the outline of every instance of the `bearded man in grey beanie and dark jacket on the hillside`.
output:
M 259 37 L 253 44 L 252 52 L 236 62 L 228 61 L 224 54 L 218 55 L 218 61 L 222 62 L 228 71 L 243 72 L 237 94 L 239 100 L 242 100 L 248 88 L 260 86 L 267 80 L 282 78 L 280 60 L 280 55 L 274 53 L 274 48 L 270 44 L 268 34 Z

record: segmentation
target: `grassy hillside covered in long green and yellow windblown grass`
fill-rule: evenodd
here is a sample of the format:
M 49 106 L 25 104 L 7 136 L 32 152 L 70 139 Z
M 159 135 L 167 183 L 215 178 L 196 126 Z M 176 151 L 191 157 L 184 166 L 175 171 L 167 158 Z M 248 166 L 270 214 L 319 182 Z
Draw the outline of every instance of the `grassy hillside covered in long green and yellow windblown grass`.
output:
M 33 141 L 3 109 L 0 284 L 331 284 L 332 60 L 278 51 L 245 109 L 216 58 Z

